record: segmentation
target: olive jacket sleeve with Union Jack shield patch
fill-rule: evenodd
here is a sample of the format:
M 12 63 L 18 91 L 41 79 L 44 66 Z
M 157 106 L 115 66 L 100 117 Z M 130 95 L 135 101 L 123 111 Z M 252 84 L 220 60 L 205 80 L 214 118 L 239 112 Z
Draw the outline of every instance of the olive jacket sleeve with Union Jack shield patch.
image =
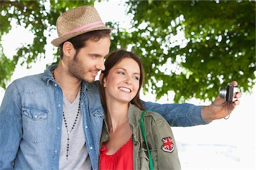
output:
M 157 150 L 158 169 L 181 169 L 174 134 L 168 122 L 163 118 L 153 121 L 151 130 Z

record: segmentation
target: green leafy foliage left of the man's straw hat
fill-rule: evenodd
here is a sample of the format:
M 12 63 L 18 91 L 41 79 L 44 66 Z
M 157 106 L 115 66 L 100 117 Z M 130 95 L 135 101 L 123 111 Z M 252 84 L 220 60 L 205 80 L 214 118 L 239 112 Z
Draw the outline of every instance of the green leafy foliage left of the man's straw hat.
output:
M 35 35 L 32 44 L 23 44 L 16 49 L 16 55 L 12 58 L 5 56 L 0 44 L 0 86 L 6 88 L 18 61 L 21 61 L 21 65 L 27 63 L 29 67 L 29 63 L 45 57 L 44 45 L 47 36 L 56 29 L 56 20 L 61 13 L 77 6 L 93 4 L 94 1 L 0 1 L 0 41 L 11 30 L 11 20 L 17 25 L 29 28 Z M 58 55 L 59 52 L 56 53 Z

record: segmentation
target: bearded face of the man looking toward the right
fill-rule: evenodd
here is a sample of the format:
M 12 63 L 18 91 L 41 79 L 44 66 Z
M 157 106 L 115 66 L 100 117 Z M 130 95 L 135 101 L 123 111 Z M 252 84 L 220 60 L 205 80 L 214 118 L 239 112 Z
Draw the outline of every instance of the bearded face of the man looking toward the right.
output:
M 69 62 L 69 74 L 85 82 L 93 82 L 98 71 L 105 70 L 104 57 L 109 53 L 109 48 L 110 37 L 86 41 L 85 47 Z

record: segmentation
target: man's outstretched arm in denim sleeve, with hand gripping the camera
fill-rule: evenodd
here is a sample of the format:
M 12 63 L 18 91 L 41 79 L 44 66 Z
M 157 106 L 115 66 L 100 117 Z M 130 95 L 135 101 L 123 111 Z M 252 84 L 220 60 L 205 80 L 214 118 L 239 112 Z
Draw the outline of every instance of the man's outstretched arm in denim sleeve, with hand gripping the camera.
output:
M 237 85 L 237 82 L 231 82 L 230 84 Z M 241 93 L 238 92 L 235 97 L 239 99 Z M 146 109 L 161 114 L 171 126 L 205 125 L 213 120 L 224 118 L 229 115 L 228 104 L 223 105 L 222 107 L 216 106 L 225 103 L 224 99 L 218 96 L 213 103 L 214 105 L 196 106 L 187 103 L 158 104 L 142 101 L 142 104 Z M 239 100 L 230 103 L 230 112 L 232 112 L 239 103 Z

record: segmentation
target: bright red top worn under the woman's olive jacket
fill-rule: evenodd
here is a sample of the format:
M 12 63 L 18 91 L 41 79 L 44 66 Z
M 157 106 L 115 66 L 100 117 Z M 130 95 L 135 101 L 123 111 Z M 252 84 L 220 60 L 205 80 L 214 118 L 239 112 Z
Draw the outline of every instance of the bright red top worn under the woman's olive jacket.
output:
M 100 169 L 133 169 L 133 141 L 131 138 L 113 155 L 106 155 L 107 148 L 102 143 Z

